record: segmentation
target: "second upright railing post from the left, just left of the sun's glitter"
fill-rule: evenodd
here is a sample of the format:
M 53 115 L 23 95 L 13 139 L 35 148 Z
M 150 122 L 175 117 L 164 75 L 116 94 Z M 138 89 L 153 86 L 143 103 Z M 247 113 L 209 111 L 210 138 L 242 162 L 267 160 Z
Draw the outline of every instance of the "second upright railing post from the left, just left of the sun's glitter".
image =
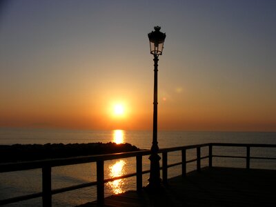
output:
M 104 167 L 103 160 L 97 161 L 97 204 L 104 204 Z

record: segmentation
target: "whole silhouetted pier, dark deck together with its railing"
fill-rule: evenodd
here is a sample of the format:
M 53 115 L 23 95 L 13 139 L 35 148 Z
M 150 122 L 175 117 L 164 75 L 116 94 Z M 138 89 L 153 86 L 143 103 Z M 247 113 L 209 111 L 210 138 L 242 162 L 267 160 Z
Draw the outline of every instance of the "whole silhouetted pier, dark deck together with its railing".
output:
M 242 156 L 213 153 L 213 148 L 220 147 L 245 148 L 246 153 Z M 202 148 L 207 150 L 207 155 L 201 153 Z M 250 155 L 252 148 L 266 150 L 266 148 L 276 148 L 276 144 L 208 143 L 159 149 L 158 153 L 162 157 L 160 170 L 163 186 L 156 192 L 142 186 L 142 175 L 150 172 L 150 170 L 142 169 L 142 157 L 150 155 L 150 150 L 0 164 L 0 172 L 42 169 L 41 193 L 2 199 L 0 205 L 41 197 L 43 206 L 52 206 L 52 195 L 97 186 L 97 201 L 91 201 L 81 206 L 276 206 L 276 164 L 270 170 L 250 168 L 250 161 L 253 159 L 275 161 L 276 157 L 254 157 Z M 177 151 L 181 152 L 181 161 L 168 164 L 168 153 Z M 187 159 L 187 154 L 193 152 L 195 152 L 195 159 Z M 136 172 L 110 179 L 104 178 L 104 161 L 128 157 L 136 157 Z M 244 168 L 213 166 L 214 157 L 243 159 Z M 208 160 L 207 166 L 201 165 L 203 159 Z M 92 162 L 97 163 L 97 181 L 52 189 L 52 167 Z M 193 162 L 196 164 L 196 169 L 187 173 L 187 164 Z M 181 166 L 181 175 L 168 179 L 168 170 L 174 166 Z M 136 190 L 104 197 L 106 182 L 127 177 L 136 177 Z

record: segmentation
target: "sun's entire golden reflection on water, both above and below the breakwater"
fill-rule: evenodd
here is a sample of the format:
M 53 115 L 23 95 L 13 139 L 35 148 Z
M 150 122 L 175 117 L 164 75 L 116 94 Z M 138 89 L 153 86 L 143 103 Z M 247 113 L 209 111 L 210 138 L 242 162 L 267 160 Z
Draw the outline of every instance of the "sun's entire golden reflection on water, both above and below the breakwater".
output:
M 125 131 L 124 130 L 113 130 L 112 133 L 112 142 L 116 144 L 125 143 Z M 111 178 L 120 177 L 124 175 L 126 172 L 126 161 L 120 159 L 116 161 L 115 164 L 112 164 L 108 167 L 108 174 Z M 110 181 L 107 184 L 112 193 L 119 194 L 124 193 L 123 186 L 125 185 L 124 179 L 117 179 L 115 181 Z

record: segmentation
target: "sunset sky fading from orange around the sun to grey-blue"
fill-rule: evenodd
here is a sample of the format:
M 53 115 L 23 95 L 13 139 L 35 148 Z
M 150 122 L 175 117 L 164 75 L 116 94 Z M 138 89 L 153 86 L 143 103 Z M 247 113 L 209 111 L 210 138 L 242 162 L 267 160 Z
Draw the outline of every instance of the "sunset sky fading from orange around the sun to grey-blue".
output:
M 276 131 L 276 1 L 0 3 L 0 127 Z M 119 108 L 119 110 L 118 110 Z

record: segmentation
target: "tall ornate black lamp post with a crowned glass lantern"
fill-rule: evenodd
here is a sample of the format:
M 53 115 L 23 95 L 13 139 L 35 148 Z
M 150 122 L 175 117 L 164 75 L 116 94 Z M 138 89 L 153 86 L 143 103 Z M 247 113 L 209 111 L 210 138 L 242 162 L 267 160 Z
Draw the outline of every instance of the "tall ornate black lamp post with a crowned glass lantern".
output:
M 153 132 L 152 132 L 152 146 L 150 148 L 151 155 L 150 159 L 150 178 L 148 179 L 148 187 L 152 190 L 158 189 L 161 186 L 160 178 L 160 165 L 159 160 L 161 159 L 157 154 L 159 147 L 157 141 L 157 72 L 158 72 L 158 57 L 162 55 L 164 48 L 164 41 L 166 33 L 160 32 L 160 27 L 156 26 L 155 31 L 148 34 L 150 40 L 150 54 L 154 56 L 155 61 L 155 78 L 154 78 L 154 95 L 153 95 Z

